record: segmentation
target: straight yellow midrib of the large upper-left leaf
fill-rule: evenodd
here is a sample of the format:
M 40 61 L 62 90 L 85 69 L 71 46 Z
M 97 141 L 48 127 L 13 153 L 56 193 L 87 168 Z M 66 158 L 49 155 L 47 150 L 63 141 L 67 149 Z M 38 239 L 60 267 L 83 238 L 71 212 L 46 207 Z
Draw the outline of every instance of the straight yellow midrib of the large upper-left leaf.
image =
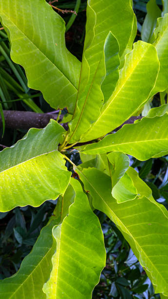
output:
M 63 77 L 64 78 L 66 78 L 66 80 L 71 84 L 71 85 L 73 85 L 73 87 L 76 89 L 76 91 L 78 91 L 78 89 L 75 87 L 75 85 L 69 80 L 69 78 L 67 78 L 65 75 L 64 75 L 64 73 L 63 73 L 63 71 L 60 69 L 60 68 L 58 68 L 58 66 L 56 65 L 56 64 L 54 64 L 43 52 L 42 52 L 42 50 L 36 45 L 36 43 L 33 43 L 28 37 L 27 37 L 27 35 L 23 32 L 23 31 L 21 31 L 21 29 L 11 20 L 11 19 L 9 19 L 8 18 L 8 15 L 6 15 L 4 12 L 2 12 L 2 14 L 7 18 L 7 20 L 9 21 L 9 22 L 11 22 L 20 32 L 21 32 L 21 34 L 23 35 L 23 36 L 25 36 L 25 38 L 28 40 L 28 41 L 30 41 L 30 43 L 32 43 L 40 52 L 41 52 L 41 54 L 47 59 L 47 60 L 49 60 L 49 62 L 54 66 L 54 67 L 56 67 L 59 71 L 60 71 L 60 73 L 63 75 Z M 5 21 L 3 22 L 3 24 L 8 28 L 8 25 L 6 25 L 5 24 Z M 8 28 L 8 30 L 10 31 L 10 29 Z M 11 36 L 11 31 L 10 31 L 10 36 Z M 11 44 L 12 44 L 12 40 L 11 40 Z M 11 46 L 11 50 L 12 50 L 12 46 Z M 16 62 L 17 63 L 17 62 Z

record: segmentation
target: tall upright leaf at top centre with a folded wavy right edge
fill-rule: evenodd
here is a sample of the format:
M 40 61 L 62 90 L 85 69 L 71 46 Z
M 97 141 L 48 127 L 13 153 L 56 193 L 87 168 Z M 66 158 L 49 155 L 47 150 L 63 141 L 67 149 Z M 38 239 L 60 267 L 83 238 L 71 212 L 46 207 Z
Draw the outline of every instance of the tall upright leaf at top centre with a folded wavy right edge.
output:
M 110 11 L 117 13 L 111 14 Z M 120 49 L 121 55 L 126 49 L 133 19 L 134 13 L 129 0 L 124 3 L 122 0 L 87 2 L 80 84 L 76 109 L 70 124 L 71 143 L 80 140 L 81 135 L 96 121 L 104 99 L 106 102 L 112 94 L 119 77 L 118 52 Z M 119 30 L 119 22 L 122 30 Z

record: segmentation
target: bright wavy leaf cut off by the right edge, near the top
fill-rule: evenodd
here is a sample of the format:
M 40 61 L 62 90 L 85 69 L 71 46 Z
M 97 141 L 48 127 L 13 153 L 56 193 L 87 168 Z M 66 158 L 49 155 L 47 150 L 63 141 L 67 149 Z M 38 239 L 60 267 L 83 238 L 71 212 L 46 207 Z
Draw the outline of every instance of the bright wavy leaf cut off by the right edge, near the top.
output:
M 155 42 L 153 45 L 156 47 L 160 70 L 156 85 L 150 94 L 150 98 L 159 91 L 164 91 L 168 87 L 168 14 L 163 18 L 159 18 L 157 27 L 154 30 Z

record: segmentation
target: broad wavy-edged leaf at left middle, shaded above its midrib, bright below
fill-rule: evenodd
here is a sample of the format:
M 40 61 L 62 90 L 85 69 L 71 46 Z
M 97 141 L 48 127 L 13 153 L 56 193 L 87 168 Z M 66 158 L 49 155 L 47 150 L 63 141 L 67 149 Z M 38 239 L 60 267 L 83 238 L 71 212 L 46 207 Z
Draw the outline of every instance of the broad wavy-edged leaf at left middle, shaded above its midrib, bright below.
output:
M 54 120 L 44 129 L 32 128 L 11 148 L 0 152 L 0 211 L 39 206 L 64 193 L 71 172 L 57 150 L 64 129 Z M 9 200 L 10 198 L 10 200 Z

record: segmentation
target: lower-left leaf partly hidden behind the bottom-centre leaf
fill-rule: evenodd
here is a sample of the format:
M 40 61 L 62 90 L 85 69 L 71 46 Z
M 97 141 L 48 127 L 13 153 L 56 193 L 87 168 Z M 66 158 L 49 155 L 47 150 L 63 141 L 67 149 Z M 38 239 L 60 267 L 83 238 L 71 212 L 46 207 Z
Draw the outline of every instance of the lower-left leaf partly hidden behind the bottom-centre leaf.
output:
M 54 215 L 42 229 L 31 253 L 26 256 L 20 270 L 12 277 L 0 280 L 0 297 L 3 299 L 41 298 L 46 299 L 42 291 L 52 270 L 52 256 L 56 249 L 56 240 L 52 237 L 52 229 L 63 221 L 73 203 L 75 192 L 69 185 L 63 199 L 57 203 Z

